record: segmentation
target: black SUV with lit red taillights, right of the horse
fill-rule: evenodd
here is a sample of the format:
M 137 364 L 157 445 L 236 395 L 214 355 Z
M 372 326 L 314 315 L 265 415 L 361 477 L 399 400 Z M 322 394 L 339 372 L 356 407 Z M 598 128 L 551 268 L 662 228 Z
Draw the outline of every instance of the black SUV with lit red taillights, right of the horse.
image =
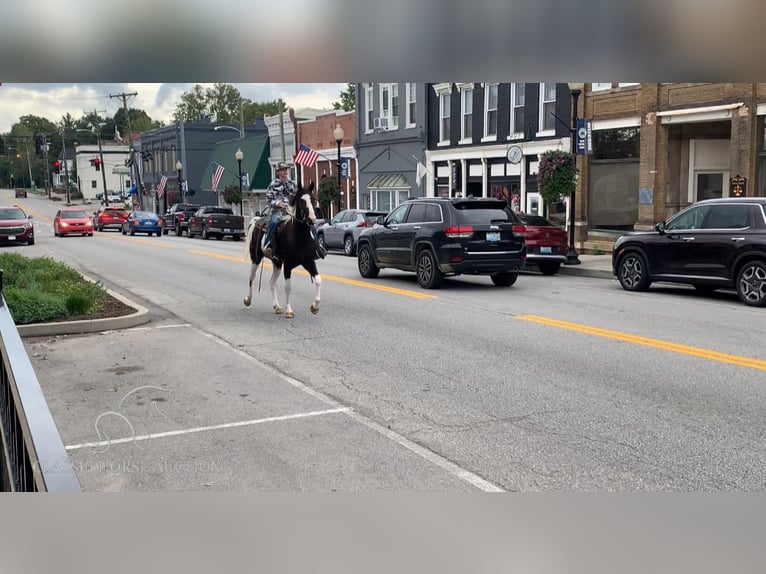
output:
M 526 260 L 524 226 L 491 198 L 419 198 L 403 202 L 359 235 L 359 273 L 369 279 L 390 267 L 414 271 L 424 289 L 445 275 L 489 275 L 516 282 Z

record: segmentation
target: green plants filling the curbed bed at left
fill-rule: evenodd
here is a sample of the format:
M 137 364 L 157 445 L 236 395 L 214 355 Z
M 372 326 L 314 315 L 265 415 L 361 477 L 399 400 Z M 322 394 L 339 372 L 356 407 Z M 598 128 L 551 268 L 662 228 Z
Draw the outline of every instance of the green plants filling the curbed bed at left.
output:
M 0 253 L 3 295 L 17 325 L 66 320 L 103 308 L 106 289 L 50 257 Z

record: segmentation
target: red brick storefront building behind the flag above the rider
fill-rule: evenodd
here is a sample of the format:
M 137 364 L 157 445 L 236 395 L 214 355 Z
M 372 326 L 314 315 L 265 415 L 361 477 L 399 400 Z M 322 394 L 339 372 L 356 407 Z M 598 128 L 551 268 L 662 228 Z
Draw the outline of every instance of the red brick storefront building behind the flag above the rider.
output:
M 332 217 L 343 209 L 354 209 L 357 205 L 356 197 L 356 150 L 353 138 L 356 129 L 355 112 L 332 111 L 317 114 L 311 120 L 298 121 L 299 144 L 305 144 L 317 152 L 318 158 L 314 167 L 302 167 L 299 179 L 304 185 L 312 181 L 318 186 L 327 177 L 338 177 L 338 142 L 335 140 L 335 129 L 340 126 L 343 130 L 343 139 L 340 142 L 341 163 L 345 163 L 347 177 L 341 173 L 341 198 L 340 203 L 330 206 L 329 217 Z M 316 193 L 316 192 L 315 192 Z

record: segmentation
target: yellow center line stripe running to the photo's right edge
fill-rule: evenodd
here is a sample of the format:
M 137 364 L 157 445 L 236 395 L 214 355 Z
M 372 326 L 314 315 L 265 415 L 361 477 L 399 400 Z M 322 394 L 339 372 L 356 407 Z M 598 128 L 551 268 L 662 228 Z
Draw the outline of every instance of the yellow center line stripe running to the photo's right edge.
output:
M 760 359 L 751 359 L 750 357 L 742 357 L 740 355 L 730 355 L 728 353 L 720 353 L 718 351 L 712 351 L 702 347 L 681 345 L 671 341 L 663 341 L 662 339 L 652 339 L 650 337 L 630 335 L 621 331 L 612 331 L 610 329 L 601 329 L 599 327 L 591 327 L 589 325 L 582 325 L 580 323 L 559 321 L 557 319 L 549 319 L 547 317 L 540 317 L 538 315 L 516 315 L 514 318 L 521 321 L 530 321 L 532 323 L 539 323 L 540 325 L 547 325 L 549 327 L 557 327 L 559 329 L 567 329 L 569 331 L 585 333 L 587 335 L 595 335 L 596 337 L 604 337 L 605 339 L 614 339 L 615 341 L 624 341 L 626 343 L 633 343 L 635 345 L 643 345 L 644 347 L 652 347 L 654 349 L 661 349 L 663 351 L 670 351 L 672 353 L 678 353 L 681 355 L 699 357 L 701 359 L 708 359 L 710 361 L 717 361 L 719 363 L 728 363 L 730 365 L 737 365 L 739 367 L 746 367 L 748 369 L 766 371 L 766 361 Z

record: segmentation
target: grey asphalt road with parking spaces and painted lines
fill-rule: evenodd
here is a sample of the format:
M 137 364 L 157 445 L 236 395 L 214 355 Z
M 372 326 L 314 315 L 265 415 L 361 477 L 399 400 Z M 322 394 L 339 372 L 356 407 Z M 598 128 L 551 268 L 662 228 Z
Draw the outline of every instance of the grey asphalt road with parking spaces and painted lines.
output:
M 26 341 L 86 490 L 763 489 L 764 311 L 732 294 L 534 274 L 423 291 L 331 254 L 319 314 L 298 275 L 287 320 L 268 270 L 243 305 L 241 242 L 54 238 L 51 204 L 19 201 L 37 244 L 4 249 L 152 314 Z

